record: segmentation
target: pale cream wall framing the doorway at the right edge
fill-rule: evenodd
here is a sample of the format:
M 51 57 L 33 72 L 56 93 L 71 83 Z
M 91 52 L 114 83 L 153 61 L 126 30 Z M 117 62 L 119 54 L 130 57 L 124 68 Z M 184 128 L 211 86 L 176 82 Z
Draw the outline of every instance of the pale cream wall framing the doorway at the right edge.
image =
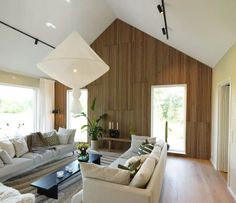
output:
M 212 78 L 212 138 L 211 160 L 217 165 L 217 130 L 218 130 L 218 87 L 219 84 L 231 80 L 231 137 L 230 137 L 230 183 L 231 192 L 236 195 L 236 43 L 213 69 Z

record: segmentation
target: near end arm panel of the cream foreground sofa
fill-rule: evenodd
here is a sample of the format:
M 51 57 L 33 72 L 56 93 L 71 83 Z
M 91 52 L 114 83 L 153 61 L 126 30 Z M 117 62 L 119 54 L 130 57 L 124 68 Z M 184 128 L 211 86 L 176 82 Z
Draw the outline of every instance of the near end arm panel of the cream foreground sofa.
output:
M 139 189 L 93 178 L 83 179 L 83 203 L 150 203 L 149 189 Z

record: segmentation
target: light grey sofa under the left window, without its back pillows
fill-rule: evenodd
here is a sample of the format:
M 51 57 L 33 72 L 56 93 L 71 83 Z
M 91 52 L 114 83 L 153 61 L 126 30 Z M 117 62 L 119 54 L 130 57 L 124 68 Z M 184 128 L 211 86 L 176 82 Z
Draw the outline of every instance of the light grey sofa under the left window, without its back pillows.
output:
M 0 168 L 0 182 L 30 171 L 48 162 L 61 159 L 75 150 L 74 144 L 56 145 L 53 147 L 56 149 L 46 150 L 44 153 L 40 154 L 28 152 L 20 158 L 13 158 L 13 164 L 6 164 L 3 168 Z

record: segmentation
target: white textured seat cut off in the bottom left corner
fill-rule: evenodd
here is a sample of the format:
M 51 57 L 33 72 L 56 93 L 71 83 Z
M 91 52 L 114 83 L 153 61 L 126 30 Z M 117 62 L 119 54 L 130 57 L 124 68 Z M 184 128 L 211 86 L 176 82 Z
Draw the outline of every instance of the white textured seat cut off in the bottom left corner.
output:
M 1 203 L 34 203 L 35 196 L 31 193 L 21 194 L 18 190 L 7 187 L 0 183 Z

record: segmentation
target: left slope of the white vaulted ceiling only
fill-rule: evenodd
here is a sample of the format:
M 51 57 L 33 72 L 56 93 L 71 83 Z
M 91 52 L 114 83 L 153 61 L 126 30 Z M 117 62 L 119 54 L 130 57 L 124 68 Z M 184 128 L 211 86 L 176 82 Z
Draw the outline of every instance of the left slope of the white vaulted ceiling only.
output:
M 114 20 L 104 0 L 0 0 L 0 20 L 57 46 L 77 30 L 90 44 Z M 56 29 L 46 27 L 51 22 Z M 0 25 L 0 69 L 47 77 L 36 64 L 52 49 Z

